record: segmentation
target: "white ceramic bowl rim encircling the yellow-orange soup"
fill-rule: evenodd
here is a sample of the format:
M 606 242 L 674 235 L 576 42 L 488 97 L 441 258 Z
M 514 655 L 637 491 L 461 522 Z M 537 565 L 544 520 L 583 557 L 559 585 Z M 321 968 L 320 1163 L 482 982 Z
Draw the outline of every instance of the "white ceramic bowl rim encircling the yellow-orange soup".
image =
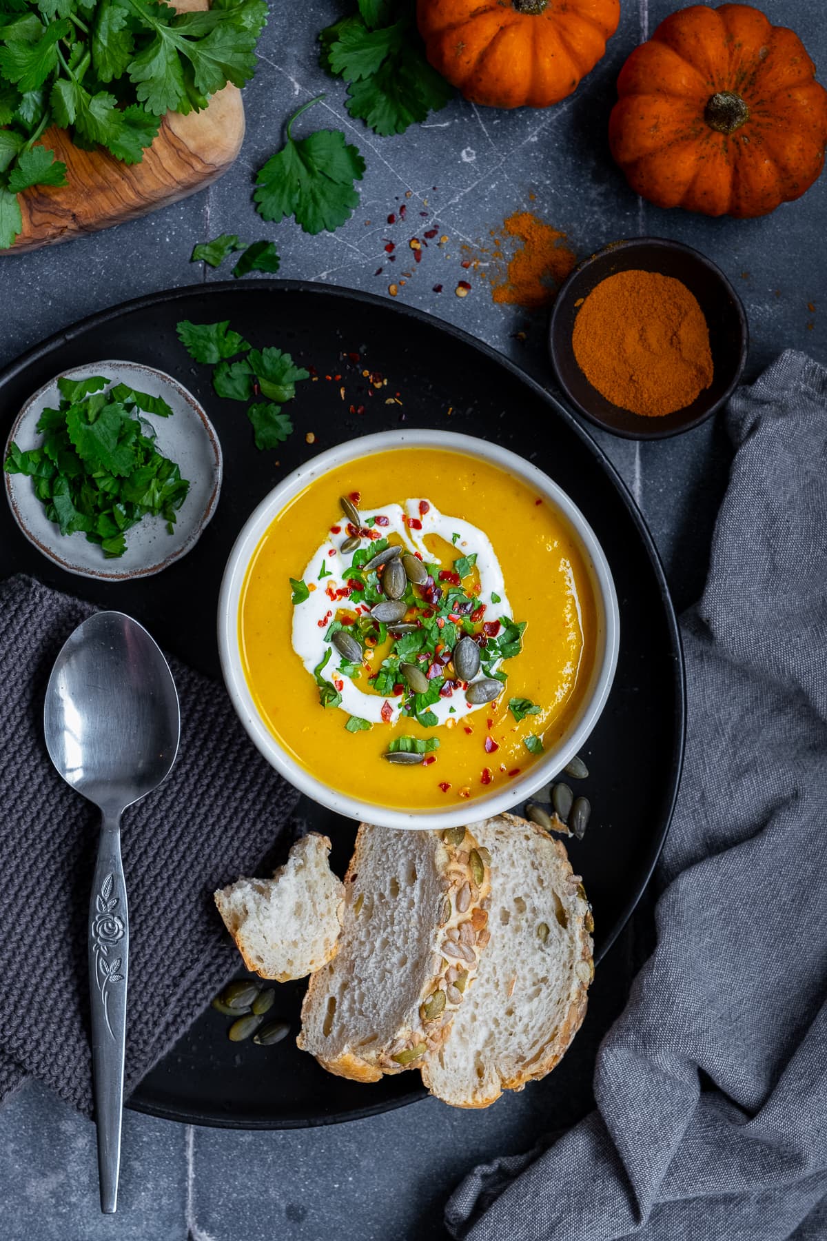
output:
M 467 457 L 490 462 L 521 478 L 533 491 L 555 505 L 568 519 L 580 540 L 598 613 L 594 670 L 583 694 L 580 709 L 560 742 L 554 750 L 547 751 L 539 762 L 527 768 L 523 776 L 511 781 L 507 787 L 497 788 L 489 795 L 477 797 L 471 803 L 446 810 L 400 810 L 372 802 L 362 802 L 330 788 L 309 771 L 305 771 L 281 748 L 258 714 L 244 676 L 238 644 L 238 608 L 247 568 L 262 535 L 276 514 L 320 474 L 325 474 L 345 462 L 403 447 L 453 449 Z M 305 465 L 300 465 L 262 500 L 244 525 L 229 553 L 218 601 L 218 650 L 224 681 L 242 724 L 267 761 L 285 779 L 315 802 L 347 818 L 363 819 L 387 828 L 436 830 L 459 827 L 475 819 L 500 814 L 510 807 L 524 802 L 538 788 L 547 784 L 579 752 L 594 728 L 611 689 L 617 665 L 619 643 L 620 618 L 611 572 L 600 544 L 580 510 L 575 508 L 557 483 L 547 478 L 536 465 L 517 457 L 516 453 L 487 441 L 471 436 L 456 436 L 445 431 L 393 431 L 366 436 L 362 439 L 351 439 L 346 444 L 330 448 L 319 457 L 314 457 Z

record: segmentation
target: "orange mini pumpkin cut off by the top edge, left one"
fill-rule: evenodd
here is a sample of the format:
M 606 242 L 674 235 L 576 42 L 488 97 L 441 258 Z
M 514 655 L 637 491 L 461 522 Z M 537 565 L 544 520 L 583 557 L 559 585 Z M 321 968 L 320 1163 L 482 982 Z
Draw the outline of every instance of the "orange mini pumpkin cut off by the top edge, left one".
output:
M 418 0 L 434 68 L 491 108 L 548 108 L 577 91 L 606 50 L 620 0 Z

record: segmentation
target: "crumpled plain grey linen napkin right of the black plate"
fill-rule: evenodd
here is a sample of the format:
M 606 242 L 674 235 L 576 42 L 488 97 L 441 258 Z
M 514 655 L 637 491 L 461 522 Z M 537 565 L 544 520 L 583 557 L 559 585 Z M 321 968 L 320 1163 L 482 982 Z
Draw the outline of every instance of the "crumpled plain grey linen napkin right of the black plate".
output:
M 827 1236 L 827 371 L 784 354 L 727 426 L 682 622 L 657 947 L 601 1045 L 596 1111 L 534 1162 L 477 1168 L 448 1204 L 455 1237 Z

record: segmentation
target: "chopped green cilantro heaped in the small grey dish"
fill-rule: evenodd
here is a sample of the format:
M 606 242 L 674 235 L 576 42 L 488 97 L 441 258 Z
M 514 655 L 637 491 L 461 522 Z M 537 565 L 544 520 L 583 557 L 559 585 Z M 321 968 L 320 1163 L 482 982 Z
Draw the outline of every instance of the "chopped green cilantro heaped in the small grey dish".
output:
M 123 556 L 126 531 L 145 516 L 160 516 L 172 534 L 175 515 L 190 484 L 175 462 L 155 447 L 155 429 L 141 417 L 169 418 L 172 410 L 102 375 L 60 379 L 63 400 L 43 410 L 38 448 L 22 452 L 12 443 L 5 462 L 9 474 L 27 474 L 46 516 L 62 535 L 82 531 L 108 558 Z

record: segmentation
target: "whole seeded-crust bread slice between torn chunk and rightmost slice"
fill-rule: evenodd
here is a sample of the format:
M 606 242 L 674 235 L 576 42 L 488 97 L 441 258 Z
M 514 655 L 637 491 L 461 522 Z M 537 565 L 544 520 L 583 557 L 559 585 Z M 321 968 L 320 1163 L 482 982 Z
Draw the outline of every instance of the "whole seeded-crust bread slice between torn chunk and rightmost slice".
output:
M 340 949 L 310 979 L 299 1046 L 378 1081 L 438 1049 L 487 943 L 489 867 L 465 828 L 363 823 L 345 876 Z

